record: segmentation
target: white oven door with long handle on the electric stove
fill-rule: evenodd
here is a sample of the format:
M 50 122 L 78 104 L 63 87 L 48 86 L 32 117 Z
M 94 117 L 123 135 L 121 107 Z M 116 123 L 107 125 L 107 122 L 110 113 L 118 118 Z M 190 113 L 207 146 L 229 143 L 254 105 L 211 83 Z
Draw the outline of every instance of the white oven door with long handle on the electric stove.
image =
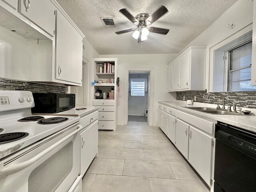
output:
M 80 173 L 80 130 L 71 126 L 0 162 L 0 191 L 68 191 Z

